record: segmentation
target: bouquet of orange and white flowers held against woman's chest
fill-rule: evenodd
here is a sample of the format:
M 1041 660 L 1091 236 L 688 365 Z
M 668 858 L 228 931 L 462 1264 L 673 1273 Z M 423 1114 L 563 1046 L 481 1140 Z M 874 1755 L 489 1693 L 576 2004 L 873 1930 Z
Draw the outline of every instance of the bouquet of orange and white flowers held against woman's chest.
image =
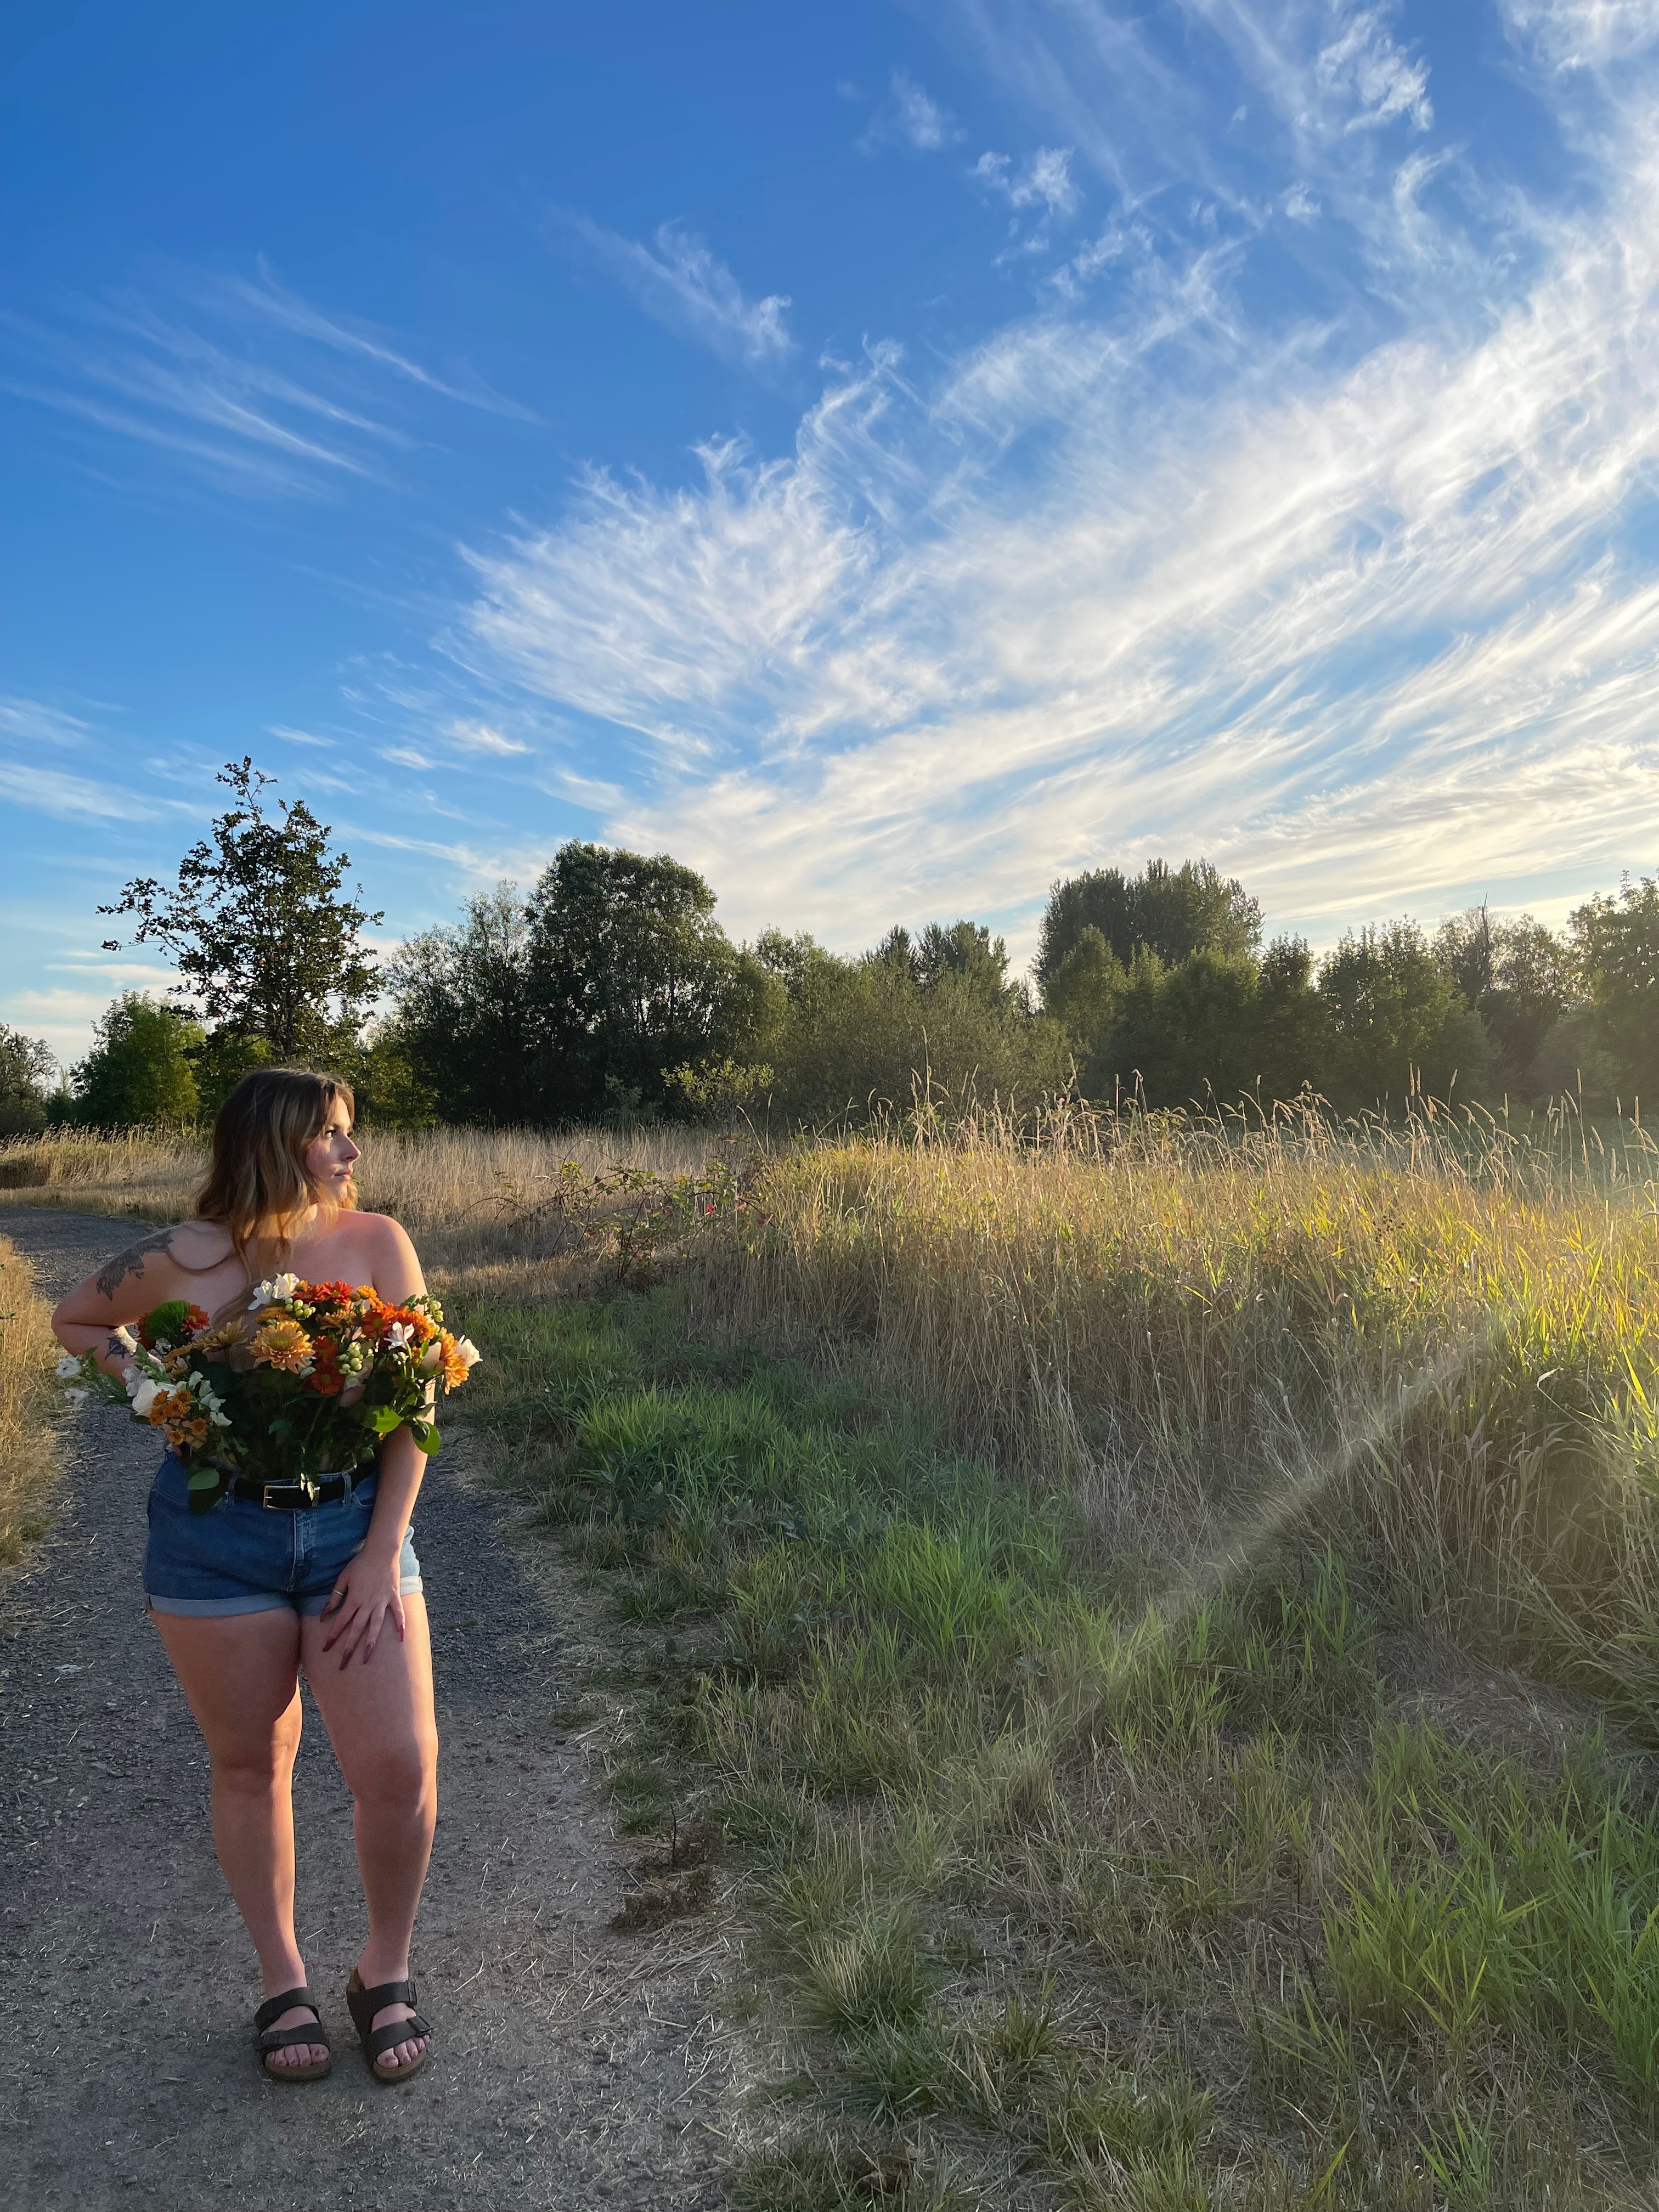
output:
M 119 1383 L 91 1352 L 58 1374 L 77 1385 L 71 1398 L 93 1391 L 159 1429 L 188 1471 L 190 1511 L 208 1513 L 232 1475 L 316 1495 L 323 1475 L 361 1467 L 394 1429 L 434 1453 L 438 1387 L 458 1389 L 478 1365 L 471 1338 L 442 1318 L 429 1296 L 387 1305 L 367 1285 L 279 1274 L 217 1327 L 170 1298 L 137 1336 L 117 1332 L 133 1354 Z

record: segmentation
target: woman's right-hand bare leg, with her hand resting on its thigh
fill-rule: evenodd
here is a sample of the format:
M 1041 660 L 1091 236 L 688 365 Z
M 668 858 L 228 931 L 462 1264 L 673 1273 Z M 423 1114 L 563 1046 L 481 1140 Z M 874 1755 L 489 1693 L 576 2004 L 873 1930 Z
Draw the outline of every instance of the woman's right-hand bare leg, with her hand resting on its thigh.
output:
M 327 1624 L 301 1621 L 305 1679 L 316 1692 L 334 1756 L 352 1792 L 352 1834 L 369 1907 L 369 1940 L 358 1958 L 367 1989 L 409 1975 L 409 1938 L 420 1905 L 420 1885 L 431 1858 L 438 1820 L 438 1723 L 431 1714 L 431 1641 L 427 1601 L 403 1601 L 405 1635 L 392 1621 L 374 1646 L 374 1657 L 341 1668 L 323 1655 Z M 376 2026 L 407 2020 L 407 2004 L 387 2004 Z M 396 2044 L 383 2066 L 405 2066 L 427 2046 L 425 2035 Z

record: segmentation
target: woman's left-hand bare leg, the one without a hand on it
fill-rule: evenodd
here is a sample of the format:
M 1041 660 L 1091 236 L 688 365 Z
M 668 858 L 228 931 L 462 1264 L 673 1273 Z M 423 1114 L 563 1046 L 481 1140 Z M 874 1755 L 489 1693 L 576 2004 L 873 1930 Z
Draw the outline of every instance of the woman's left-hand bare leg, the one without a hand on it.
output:
M 299 1615 L 228 1613 L 150 1619 L 197 1717 L 212 1759 L 212 1843 L 230 1896 L 259 1953 L 265 1995 L 296 1989 L 305 1962 L 294 1942 L 294 1752 L 299 1750 Z M 314 2020 L 294 2006 L 276 2026 Z M 272 2066 L 321 2066 L 323 2044 L 272 2053 Z

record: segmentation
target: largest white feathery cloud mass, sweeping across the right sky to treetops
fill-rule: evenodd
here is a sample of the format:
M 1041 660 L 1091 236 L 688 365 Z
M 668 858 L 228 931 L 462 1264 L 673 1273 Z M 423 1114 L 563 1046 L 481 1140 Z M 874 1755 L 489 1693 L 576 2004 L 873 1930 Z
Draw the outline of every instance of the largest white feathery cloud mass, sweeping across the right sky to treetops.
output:
M 1006 13 L 1051 51 L 1141 38 L 1084 0 Z M 896 909 L 1029 916 L 1055 872 L 1155 849 L 1303 920 L 1659 854 L 1657 71 L 1593 4 L 1573 46 L 1571 13 L 1517 20 L 1513 66 L 1582 102 L 1590 62 L 1555 55 L 1617 46 L 1573 199 L 1475 177 L 1427 212 L 1447 150 L 1385 11 L 1192 7 L 1232 55 L 1221 113 L 1270 102 L 1267 190 L 1192 119 L 1208 223 L 1121 199 L 1104 294 L 1073 279 L 925 385 L 872 356 L 785 458 L 710 445 L 688 491 L 586 476 L 555 526 L 473 551 L 478 664 L 626 732 L 646 768 L 613 834 L 672 836 L 739 925 L 836 942 Z M 1082 82 L 1035 69 L 1033 100 L 1071 113 Z M 1241 272 L 1296 188 L 1349 226 L 1352 290 L 1261 321 Z M 1460 296 L 1498 199 L 1528 254 Z

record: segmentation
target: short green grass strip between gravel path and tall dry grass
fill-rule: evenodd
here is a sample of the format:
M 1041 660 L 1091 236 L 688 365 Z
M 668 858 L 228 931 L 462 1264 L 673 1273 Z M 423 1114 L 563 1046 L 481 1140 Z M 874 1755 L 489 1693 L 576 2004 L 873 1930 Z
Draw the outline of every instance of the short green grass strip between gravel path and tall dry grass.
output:
M 925 1405 L 668 1294 L 465 1318 L 471 1411 L 644 1652 L 622 1825 L 721 1820 L 805 2062 L 739 2203 L 1639 2201 L 1641 1772 L 1402 1705 L 1363 1553 L 1290 1524 L 1148 1599 Z

